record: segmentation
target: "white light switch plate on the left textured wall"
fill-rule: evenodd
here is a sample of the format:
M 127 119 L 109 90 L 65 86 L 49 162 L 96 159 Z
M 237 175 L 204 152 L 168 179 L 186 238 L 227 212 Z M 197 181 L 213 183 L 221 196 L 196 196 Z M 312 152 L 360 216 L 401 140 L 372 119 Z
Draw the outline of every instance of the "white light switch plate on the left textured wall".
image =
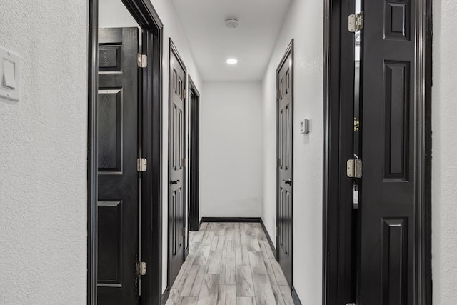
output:
M 21 58 L 0 48 L 0 97 L 21 99 Z

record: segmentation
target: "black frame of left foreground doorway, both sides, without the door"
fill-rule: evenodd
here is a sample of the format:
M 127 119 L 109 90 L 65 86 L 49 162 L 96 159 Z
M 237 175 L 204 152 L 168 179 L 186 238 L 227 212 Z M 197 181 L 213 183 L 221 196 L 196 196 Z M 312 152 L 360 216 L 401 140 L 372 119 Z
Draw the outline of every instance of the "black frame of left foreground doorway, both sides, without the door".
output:
M 142 277 L 146 289 L 141 304 L 161 304 L 161 139 L 162 139 L 162 57 L 164 24 L 149 0 L 121 0 L 141 29 L 146 31 L 149 51 L 148 67 L 143 73 L 141 110 L 145 124 L 143 156 L 149 160 L 149 171 L 143 173 L 141 196 L 141 232 L 143 261 L 149 263 Z M 97 304 L 97 101 L 99 88 L 99 1 L 89 0 L 89 77 L 87 142 L 87 304 Z M 140 120 L 141 121 L 141 120 Z M 148 186 L 148 187 L 146 187 Z M 152 187 L 151 187 L 152 186 Z M 149 237 L 149 239 L 148 239 Z M 149 247 L 147 246 L 149 245 Z M 155 245 L 155 246 L 154 246 Z

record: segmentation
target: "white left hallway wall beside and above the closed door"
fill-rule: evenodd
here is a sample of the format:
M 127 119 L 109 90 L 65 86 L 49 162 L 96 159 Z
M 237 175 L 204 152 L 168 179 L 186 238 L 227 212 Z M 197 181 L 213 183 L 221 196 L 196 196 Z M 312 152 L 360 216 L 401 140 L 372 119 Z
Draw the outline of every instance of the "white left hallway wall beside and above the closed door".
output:
M 169 155 L 169 38 L 173 40 L 176 49 L 179 51 L 179 55 L 186 64 L 187 73 L 192 77 L 194 80 L 194 84 L 196 85 L 197 89 L 201 92 L 203 90 L 203 84 L 201 81 L 201 77 L 199 71 L 196 67 L 194 57 L 192 56 L 191 49 L 189 48 L 189 43 L 186 39 L 184 31 L 182 29 L 181 24 L 179 23 L 178 16 L 176 16 L 176 11 L 171 1 L 169 0 L 151 0 L 154 9 L 156 9 L 157 14 L 161 21 L 164 23 L 164 61 L 162 62 L 162 66 L 164 69 L 164 91 L 163 91 L 163 100 L 164 100 L 164 133 L 162 136 L 162 154 L 163 154 L 163 176 L 162 176 L 162 206 L 163 206 L 163 231 L 162 231 L 162 290 L 166 289 L 166 266 L 167 266 L 167 243 L 168 243 L 168 155 Z M 204 102 L 204 96 L 201 96 L 201 102 Z

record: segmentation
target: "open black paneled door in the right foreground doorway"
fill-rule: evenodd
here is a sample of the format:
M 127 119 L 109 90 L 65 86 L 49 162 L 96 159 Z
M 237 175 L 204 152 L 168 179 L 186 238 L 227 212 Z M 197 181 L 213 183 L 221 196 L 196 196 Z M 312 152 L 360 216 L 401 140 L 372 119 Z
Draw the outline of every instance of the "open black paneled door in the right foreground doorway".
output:
M 416 1 L 365 1 L 361 305 L 418 304 Z

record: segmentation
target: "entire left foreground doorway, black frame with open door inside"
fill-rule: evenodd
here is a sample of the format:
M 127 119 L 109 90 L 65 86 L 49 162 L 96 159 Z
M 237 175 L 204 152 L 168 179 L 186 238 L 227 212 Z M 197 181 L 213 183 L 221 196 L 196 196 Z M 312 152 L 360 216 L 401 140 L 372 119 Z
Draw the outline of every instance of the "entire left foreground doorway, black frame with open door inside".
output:
M 162 24 L 90 1 L 88 304 L 161 301 Z

